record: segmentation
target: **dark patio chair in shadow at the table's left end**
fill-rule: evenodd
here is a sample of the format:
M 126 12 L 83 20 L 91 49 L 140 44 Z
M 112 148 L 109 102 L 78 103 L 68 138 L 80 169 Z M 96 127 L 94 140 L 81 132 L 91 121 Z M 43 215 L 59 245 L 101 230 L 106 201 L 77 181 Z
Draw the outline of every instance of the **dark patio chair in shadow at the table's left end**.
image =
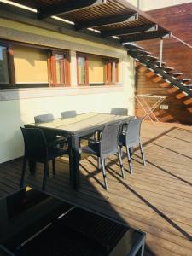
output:
M 26 160 L 34 163 L 44 164 L 44 177 L 42 182 L 42 190 L 45 188 L 46 177 L 49 172 L 49 160 L 52 160 L 53 174 L 55 175 L 55 158 L 68 154 L 68 150 L 58 147 L 49 147 L 44 132 L 39 128 L 22 128 L 22 135 L 25 143 L 25 154 L 23 160 L 22 174 L 20 178 L 20 188 L 24 186 L 26 174 Z

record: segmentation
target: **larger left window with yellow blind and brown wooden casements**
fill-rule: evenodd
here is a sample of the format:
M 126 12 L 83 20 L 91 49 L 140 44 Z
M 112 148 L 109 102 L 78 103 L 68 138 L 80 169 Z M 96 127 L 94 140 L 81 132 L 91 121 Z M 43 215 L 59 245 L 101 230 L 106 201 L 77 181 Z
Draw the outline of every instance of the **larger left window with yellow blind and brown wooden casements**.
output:
M 68 51 L 20 42 L 0 42 L 0 88 L 68 85 Z

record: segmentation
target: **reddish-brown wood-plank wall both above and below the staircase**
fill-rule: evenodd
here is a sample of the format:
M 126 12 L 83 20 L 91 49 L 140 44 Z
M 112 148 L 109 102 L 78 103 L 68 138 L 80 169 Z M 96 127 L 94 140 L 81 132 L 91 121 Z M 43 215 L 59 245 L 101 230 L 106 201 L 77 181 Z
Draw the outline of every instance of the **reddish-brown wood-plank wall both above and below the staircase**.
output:
M 154 17 L 162 26 L 170 29 L 177 38 L 182 38 L 188 44 L 192 44 L 192 3 L 185 3 L 164 9 L 149 11 L 148 15 Z M 159 56 L 160 39 L 146 40 L 137 43 L 145 50 L 150 51 L 152 55 Z M 163 61 L 166 66 L 174 67 L 174 72 L 183 73 L 180 78 L 192 80 L 192 51 L 191 49 L 178 42 L 174 38 L 164 39 Z M 188 84 L 192 84 L 191 81 Z M 162 104 L 168 105 L 168 109 L 156 109 L 157 117 L 164 122 L 178 122 L 183 124 L 192 124 L 192 99 L 181 93 L 176 88 L 172 88 L 164 80 L 155 76 L 154 73 L 146 70 L 139 65 L 137 67 L 136 80 L 137 94 L 155 94 L 165 95 L 166 100 Z M 153 104 L 147 99 L 148 104 Z M 143 109 L 137 104 L 136 113 L 143 115 Z

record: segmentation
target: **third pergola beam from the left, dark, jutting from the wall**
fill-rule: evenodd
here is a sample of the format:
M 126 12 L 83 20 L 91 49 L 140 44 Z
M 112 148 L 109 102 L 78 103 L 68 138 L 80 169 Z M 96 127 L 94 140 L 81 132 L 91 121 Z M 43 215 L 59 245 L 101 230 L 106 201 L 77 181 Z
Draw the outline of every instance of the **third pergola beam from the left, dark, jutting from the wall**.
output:
M 154 32 L 158 30 L 158 26 L 155 24 L 147 25 L 147 26 L 137 26 L 137 27 L 125 27 L 121 29 L 109 30 L 102 32 L 102 38 L 112 37 L 112 36 L 120 36 L 120 35 L 129 35 L 137 32 Z

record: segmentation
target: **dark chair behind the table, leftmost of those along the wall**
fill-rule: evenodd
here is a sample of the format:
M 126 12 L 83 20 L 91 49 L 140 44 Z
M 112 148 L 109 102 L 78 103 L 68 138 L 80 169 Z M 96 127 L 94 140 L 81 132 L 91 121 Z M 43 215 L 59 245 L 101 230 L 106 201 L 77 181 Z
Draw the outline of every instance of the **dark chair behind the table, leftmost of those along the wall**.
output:
M 54 115 L 52 113 L 45 113 L 41 115 L 37 115 L 34 117 L 35 124 L 49 123 L 54 120 Z M 65 143 L 67 143 L 67 137 L 56 136 L 52 131 L 44 130 L 44 135 L 46 137 L 47 142 L 49 143 L 49 147 L 55 145 L 59 145 L 63 147 Z

